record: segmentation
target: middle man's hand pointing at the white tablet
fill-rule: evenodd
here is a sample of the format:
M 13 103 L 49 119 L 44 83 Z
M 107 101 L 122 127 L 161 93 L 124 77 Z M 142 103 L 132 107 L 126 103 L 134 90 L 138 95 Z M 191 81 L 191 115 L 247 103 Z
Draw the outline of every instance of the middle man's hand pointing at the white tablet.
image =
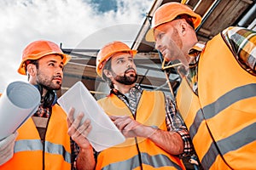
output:
M 109 116 L 125 138 L 148 137 L 147 126 L 135 121 L 130 116 Z

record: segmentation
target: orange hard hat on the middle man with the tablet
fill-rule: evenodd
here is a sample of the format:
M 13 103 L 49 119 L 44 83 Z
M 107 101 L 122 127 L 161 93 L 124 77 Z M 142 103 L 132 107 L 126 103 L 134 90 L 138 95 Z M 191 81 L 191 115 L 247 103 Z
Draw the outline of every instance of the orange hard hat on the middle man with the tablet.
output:
M 124 42 L 110 42 L 105 45 L 97 54 L 96 58 L 96 72 L 102 77 L 102 69 L 113 54 L 117 53 L 130 53 L 132 56 L 137 54 L 137 50 L 132 50 Z

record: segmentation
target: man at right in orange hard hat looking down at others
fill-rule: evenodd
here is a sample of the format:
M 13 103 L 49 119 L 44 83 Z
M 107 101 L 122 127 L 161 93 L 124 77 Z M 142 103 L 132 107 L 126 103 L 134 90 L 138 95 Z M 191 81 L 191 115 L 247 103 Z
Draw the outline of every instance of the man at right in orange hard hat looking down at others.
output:
M 229 27 L 198 42 L 201 16 L 166 3 L 146 39 L 166 61 L 183 63 L 177 108 L 205 169 L 252 169 L 256 156 L 256 32 Z M 179 68 L 178 68 L 179 69 Z

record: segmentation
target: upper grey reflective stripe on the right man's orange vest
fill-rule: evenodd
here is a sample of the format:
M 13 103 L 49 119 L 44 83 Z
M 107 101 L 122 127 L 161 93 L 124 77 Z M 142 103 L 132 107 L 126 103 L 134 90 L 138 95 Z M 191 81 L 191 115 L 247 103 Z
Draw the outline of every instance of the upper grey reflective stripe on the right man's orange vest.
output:
M 202 109 L 204 114 L 202 114 L 201 110 L 197 111 L 194 122 L 189 127 L 191 139 L 195 137 L 195 133 L 197 133 L 198 127 L 203 121 L 204 116 L 206 119 L 212 118 L 213 116 L 216 116 L 220 111 L 223 111 L 225 108 L 236 103 L 237 101 L 241 99 L 251 98 L 254 96 L 256 96 L 256 83 L 235 88 L 229 93 L 224 94 L 211 105 L 206 105 Z

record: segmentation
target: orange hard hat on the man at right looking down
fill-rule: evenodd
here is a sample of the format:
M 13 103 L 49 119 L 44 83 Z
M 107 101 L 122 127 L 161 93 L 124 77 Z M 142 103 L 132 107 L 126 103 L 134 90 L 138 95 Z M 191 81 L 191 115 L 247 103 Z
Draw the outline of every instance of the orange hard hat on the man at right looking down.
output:
M 174 20 L 180 14 L 188 14 L 191 16 L 195 28 L 200 26 L 201 16 L 199 14 L 195 14 L 195 12 L 187 5 L 175 2 L 165 3 L 154 12 L 151 29 L 149 29 L 146 34 L 146 40 L 148 42 L 154 42 L 154 29 L 157 26 Z

